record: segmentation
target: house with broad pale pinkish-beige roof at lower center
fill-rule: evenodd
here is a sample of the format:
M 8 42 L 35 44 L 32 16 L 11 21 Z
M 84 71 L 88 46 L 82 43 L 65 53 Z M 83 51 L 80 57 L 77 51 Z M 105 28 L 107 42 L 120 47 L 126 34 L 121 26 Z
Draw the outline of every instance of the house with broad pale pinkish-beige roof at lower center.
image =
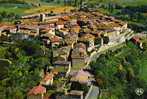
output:
M 94 80 L 93 75 L 91 75 L 88 71 L 79 70 L 78 72 L 72 72 L 69 74 L 71 76 L 71 82 L 79 82 L 80 84 L 88 84 Z

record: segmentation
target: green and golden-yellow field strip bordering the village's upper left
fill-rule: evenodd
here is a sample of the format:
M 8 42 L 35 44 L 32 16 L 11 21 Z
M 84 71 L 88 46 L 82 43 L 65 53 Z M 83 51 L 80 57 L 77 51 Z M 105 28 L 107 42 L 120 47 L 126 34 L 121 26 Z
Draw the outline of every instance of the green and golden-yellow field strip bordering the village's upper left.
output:
M 19 15 L 24 14 L 34 14 L 42 12 L 53 11 L 55 13 L 59 12 L 68 12 L 73 7 L 71 6 L 62 6 L 57 4 L 42 4 L 41 6 L 31 6 L 26 4 L 0 4 L 0 12 L 15 13 Z

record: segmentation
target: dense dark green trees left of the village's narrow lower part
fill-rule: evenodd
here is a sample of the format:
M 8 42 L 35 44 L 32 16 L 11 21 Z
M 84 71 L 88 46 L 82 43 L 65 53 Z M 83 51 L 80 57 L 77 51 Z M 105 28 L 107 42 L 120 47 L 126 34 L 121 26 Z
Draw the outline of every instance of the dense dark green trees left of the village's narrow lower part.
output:
M 41 70 L 45 68 L 45 65 L 50 65 L 50 49 L 35 39 L 14 41 L 14 44 L 5 46 L 7 46 L 4 48 L 6 50 L 3 50 L 3 47 L 0 48 L 0 52 L 3 53 L 0 56 L 11 60 L 12 64 L 7 69 L 3 69 L 5 76 L 0 80 L 0 91 L 2 91 L 0 98 L 24 99 L 27 91 L 40 82 Z M 28 49 L 31 52 L 28 52 Z

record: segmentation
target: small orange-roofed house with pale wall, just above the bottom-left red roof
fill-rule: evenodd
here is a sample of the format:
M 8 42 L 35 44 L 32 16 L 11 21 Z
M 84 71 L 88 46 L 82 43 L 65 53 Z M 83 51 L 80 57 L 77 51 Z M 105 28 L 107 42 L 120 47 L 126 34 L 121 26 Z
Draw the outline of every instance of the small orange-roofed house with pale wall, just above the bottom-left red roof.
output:
M 41 80 L 40 84 L 46 86 L 53 85 L 53 77 L 54 75 L 52 73 L 46 73 L 43 79 Z

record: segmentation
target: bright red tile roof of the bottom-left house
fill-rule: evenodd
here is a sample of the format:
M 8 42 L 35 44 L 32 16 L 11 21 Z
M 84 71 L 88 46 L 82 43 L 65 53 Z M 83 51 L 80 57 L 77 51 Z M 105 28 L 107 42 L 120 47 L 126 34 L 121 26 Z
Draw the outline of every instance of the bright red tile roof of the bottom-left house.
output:
M 43 93 L 46 93 L 46 88 L 41 85 L 38 85 L 38 86 L 32 88 L 28 92 L 28 95 L 37 95 L 37 94 L 43 94 Z

